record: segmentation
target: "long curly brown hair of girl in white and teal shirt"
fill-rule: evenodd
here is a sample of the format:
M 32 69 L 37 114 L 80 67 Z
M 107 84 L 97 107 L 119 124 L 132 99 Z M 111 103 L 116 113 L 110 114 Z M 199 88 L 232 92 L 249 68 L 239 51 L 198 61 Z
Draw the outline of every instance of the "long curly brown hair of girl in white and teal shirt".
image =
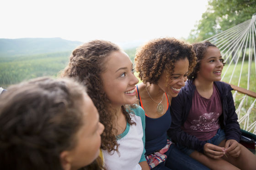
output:
M 101 134 L 101 149 L 108 152 L 118 151 L 117 129 L 113 127 L 115 115 L 107 94 L 103 90 L 101 73 L 106 70 L 107 57 L 121 49 L 110 41 L 90 41 L 76 48 L 69 58 L 69 65 L 64 69 L 62 77 L 76 77 L 87 88 L 87 93 L 96 106 L 100 122 L 105 126 Z M 122 106 L 122 112 L 129 124 L 132 122 L 129 113 Z

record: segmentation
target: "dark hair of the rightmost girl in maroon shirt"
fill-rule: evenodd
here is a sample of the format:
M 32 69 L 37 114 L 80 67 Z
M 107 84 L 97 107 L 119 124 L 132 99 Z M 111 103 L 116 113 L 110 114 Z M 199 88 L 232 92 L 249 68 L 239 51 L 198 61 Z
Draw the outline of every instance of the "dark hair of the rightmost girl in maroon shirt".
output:
M 192 46 L 193 46 L 193 50 L 197 56 L 197 64 L 196 64 L 193 72 L 188 76 L 188 79 L 190 79 L 190 80 L 194 80 L 195 78 L 197 78 L 197 72 L 200 69 L 201 60 L 203 59 L 208 47 L 209 46 L 217 47 L 209 41 L 194 43 L 194 44 L 192 44 Z M 221 62 L 223 64 L 223 66 L 226 64 L 223 59 L 221 60 Z

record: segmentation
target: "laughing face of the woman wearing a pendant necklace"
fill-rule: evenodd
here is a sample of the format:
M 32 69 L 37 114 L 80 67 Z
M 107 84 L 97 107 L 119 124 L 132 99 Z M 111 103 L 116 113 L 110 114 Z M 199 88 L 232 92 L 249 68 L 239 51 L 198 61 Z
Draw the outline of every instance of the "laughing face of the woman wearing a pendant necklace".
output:
M 176 61 L 172 77 L 166 82 L 167 73 L 164 70 L 158 80 L 158 86 L 169 96 L 176 97 L 187 81 L 188 66 L 187 58 Z

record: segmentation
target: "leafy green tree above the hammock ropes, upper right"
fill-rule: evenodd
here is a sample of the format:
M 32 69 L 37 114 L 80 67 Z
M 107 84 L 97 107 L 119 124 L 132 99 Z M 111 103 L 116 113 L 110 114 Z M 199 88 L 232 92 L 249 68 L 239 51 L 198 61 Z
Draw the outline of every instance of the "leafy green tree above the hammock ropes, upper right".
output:
M 251 19 L 256 0 L 209 0 L 208 9 L 190 32 L 189 42 L 203 41 L 215 34 Z

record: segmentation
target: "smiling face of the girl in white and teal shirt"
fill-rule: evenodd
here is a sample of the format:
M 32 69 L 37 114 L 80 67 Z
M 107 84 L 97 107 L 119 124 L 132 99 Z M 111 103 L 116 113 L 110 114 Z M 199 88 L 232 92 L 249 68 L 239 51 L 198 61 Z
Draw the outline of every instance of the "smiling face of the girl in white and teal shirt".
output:
M 112 52 L 101 74 L 103 89 L 113 107 L 136 102 L 135 85 L 139 80 L 133 75 L 133 63 L 125 52 Z

